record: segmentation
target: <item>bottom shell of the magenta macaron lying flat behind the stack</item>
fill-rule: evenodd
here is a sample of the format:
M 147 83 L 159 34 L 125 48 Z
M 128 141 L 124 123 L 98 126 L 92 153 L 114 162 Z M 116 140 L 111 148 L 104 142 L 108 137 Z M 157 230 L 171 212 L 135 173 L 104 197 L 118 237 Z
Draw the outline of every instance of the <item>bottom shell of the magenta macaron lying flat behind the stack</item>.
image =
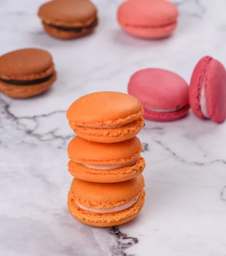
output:
M 156 122 L 170 122 L 174 120 L 178 120 L 183 118 L 188 114 L 190 106 L 186 105 L 184 108 L 182 108 L 179 111 L 174 111 L 174 112 L 155 112 L 155 111 L 150 111 L 147 109 L 144 109 L 144 118 L 149 119 L 152 121 Z

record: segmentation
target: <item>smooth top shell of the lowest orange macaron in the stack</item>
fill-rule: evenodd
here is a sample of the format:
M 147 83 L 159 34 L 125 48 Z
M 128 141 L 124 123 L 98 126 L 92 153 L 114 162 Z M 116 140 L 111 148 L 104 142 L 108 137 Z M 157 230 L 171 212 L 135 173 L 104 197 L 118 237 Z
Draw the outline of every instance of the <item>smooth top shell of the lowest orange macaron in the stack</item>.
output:
M 112 203 L 133 197 L 144 186 L 142 175 L 117 183 L 94 183 L 74 178 L 71 190 L 76 197 L 85 201 Z

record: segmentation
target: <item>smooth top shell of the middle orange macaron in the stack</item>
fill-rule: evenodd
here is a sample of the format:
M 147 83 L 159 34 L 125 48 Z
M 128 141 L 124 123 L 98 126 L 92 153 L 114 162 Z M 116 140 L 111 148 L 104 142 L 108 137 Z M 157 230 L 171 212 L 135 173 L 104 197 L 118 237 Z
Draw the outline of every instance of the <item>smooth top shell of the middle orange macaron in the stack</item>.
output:
M 76 163 L 120 164 L 134 160 L 142 151 L 138 137 L 119 143 L 96 143 L 80 137 L 68 144 L 68 156 Z

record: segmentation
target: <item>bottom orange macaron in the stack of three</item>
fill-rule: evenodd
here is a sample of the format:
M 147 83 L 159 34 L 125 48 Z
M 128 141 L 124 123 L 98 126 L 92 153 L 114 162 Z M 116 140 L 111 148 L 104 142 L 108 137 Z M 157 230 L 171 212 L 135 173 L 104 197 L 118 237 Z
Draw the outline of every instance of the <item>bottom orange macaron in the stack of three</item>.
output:
M 145 201 L 144 177 L 118 183 L 94 183 L 74 178 L 68 193 L 71 215 L 84 224 L 111 227 L 130 221 Z

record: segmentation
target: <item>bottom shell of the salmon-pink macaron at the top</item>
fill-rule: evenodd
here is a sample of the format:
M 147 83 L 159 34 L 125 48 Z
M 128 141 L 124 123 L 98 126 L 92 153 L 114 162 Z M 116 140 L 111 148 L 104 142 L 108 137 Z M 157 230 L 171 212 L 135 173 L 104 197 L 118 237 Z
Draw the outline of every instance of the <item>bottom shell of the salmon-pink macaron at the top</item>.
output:
M 130 35 L 136 36 L 138 38 L 144 39 L 160 39 L 166 38 L 172 34 L 172 32 L 176 29 L 177 23 L 160 26 L 158 28 L 153 27 L 137 27 L 137 26 L 127 26 L 121 25 L 122 29 Z

